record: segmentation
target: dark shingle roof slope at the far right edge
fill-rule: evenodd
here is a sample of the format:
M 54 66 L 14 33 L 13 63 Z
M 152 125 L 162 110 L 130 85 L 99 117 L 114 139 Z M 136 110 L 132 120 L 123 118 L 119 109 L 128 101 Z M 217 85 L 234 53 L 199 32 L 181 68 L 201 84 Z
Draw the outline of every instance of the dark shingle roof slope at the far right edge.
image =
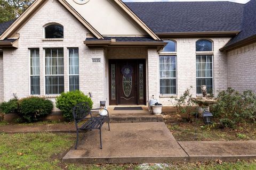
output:
M 251 0 L 245 4 L 241 32 L 232 38 L 224 48 L 253 36 L 256 36 L 256 0 Z

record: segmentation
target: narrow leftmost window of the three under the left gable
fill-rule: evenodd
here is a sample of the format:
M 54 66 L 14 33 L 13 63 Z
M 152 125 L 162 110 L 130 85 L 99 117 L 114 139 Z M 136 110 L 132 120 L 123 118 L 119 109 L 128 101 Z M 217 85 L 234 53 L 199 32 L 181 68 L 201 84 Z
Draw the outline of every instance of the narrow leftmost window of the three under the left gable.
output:
M 40 95 L 39 49 L 30 49 L 30 94 Z

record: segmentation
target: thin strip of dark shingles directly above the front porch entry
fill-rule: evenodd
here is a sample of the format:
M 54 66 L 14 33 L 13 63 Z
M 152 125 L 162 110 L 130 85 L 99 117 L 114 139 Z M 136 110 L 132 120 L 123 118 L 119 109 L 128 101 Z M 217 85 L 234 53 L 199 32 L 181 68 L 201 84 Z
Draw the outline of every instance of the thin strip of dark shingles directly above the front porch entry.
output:
M 111 40 L 116 39 L 117 42 L 154 42 L 157 40 L 154 40 L 151 37 L 103 37 L 104 40 Z M 97 41 L 97 40 L 103 40 L 98 38 L 86 38 L 86 41 Z

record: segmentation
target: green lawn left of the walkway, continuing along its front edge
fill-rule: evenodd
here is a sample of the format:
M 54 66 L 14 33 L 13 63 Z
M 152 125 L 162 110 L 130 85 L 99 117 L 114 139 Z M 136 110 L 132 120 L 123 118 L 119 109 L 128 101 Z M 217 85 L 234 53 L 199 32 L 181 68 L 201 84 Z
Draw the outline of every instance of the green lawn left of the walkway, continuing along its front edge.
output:
M 222 164 L 65 164 L 61 158 L 74 145 L 75 134 L 0 134 L 0 169 L 256 169 L 256 160 Z

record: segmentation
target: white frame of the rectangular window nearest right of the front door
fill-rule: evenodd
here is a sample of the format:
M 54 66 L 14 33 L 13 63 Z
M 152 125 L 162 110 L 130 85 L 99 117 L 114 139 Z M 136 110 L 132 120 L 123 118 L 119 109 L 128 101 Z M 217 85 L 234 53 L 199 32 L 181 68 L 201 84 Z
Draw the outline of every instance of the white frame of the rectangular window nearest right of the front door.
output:
M 175 54 L 174 54 L 175 53 Z M 160 56 L 175 56 L 175 67 L 176 67 L 176 70 L 175 70 L 175 78 L 160 78 Z M 159 89 L 160 89 L 160 80 L 161 79 L 175 79 L 176 80 L 176 91 L 175 91 L 175 94 L 161 94 L 161 92 L 159 91 L 159 97 L 176 97 L 177 94 L 178 94 L 178 82 L 177 82 L 177 52 L 172 52 L 172 55 L 166 55 L 166 54 L 159 54 L 159 57 L 158 57 L 158 60 L 159 60 Z

